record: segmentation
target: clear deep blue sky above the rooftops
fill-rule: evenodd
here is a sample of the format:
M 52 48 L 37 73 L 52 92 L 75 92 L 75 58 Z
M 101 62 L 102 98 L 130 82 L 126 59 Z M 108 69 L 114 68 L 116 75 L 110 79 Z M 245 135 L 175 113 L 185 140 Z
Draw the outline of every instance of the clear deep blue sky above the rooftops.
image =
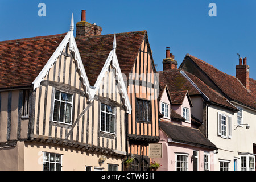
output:
M 45 17 L 38 16 L 39 3 Z M 209 3 L 216 4 L 216 17 L 208 15 Z M 189 53 L 233 76 L 239 53 L 256 79 L 255 9 L 255 0 L 0 0 L 0 41 L 68 32 L 72 12 L 76 23 L 86 10 L 86 21 L 102 34 L 147 30 L 158 71 L 171 47 L 178 66 Z

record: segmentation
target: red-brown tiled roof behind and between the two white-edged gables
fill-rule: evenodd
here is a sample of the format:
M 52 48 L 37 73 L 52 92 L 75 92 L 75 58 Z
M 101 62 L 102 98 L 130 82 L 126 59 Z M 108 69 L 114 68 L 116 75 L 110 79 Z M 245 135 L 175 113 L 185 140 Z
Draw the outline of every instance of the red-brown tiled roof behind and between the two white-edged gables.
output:
M 126 75 L 127 79 L 146 34 L 146 31 L 116 34 L 117 59 L 121 72 Z M 101 69 L 113 49 L 113 40 L 114 34 L 76 38 L 85 72 L 92 86 L 94 86 L 97 76 L 100 75 Z

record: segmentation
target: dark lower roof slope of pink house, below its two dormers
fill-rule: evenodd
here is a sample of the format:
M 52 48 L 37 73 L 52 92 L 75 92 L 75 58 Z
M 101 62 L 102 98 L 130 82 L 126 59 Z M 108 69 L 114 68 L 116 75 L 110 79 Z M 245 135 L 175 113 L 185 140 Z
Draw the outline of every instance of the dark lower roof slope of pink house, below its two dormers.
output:
M 215 150 L 217 147 L 198 130 L 191 127 L 160 121 L 160 129 L 175 142 L 192 144 Z

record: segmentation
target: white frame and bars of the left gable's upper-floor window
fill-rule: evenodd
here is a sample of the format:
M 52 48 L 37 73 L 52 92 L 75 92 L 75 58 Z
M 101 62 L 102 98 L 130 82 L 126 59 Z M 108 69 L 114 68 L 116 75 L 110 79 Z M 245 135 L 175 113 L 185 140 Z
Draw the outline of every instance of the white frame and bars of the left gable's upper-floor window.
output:
M 55 97 L 56 97 L 56 92 L 60 92 L 60 99 L 56 99 Z M 66 124 L 66 125 L 72 125 L 72 114 L 73 114 L 73 112 L 72 112 L 72 110 L 73 110 L 73 94 L 70 94 L 71 95 L 71 102 L 69 102 L 69 101 L 64 101 L 64 100 L 61 100 L 61 95 L 62 95 L 62 93 L 64 93 L 64 94 L 69 94 L 69 93 L 67 93 L 67 92 L 63 92 L 63 91 L 61 91 L 61 90 L 55 90 L 55 92 L 54 92 L 54 103 L 53 103 L 53 111 L 52 111 L 52 121 L 53 122 L 57 122 L 57 123 L 63 123 L 63 124 Z M 54 109 L 55 109 L 55 101 L 59 101 L 60 102 L 60 105 L 59 105 L 59 117 L 58 117 L 58 121 L 56 121 L 56 120 L 53 120 L 53 118 L 54 118 Z M 60 107 L 61 107 L 61 102 L 63 102 L 63 103 L 65 103 L 65 110 L 67 109 L 67 104 L 71 104 L 71 116 L 70 116 L 70 122 L 68 123 L 68 122 L 65 122 L 65 114 L 66 114 L 66 111 L 64 111 L 64 122 L 61 122 L 60 121 Z

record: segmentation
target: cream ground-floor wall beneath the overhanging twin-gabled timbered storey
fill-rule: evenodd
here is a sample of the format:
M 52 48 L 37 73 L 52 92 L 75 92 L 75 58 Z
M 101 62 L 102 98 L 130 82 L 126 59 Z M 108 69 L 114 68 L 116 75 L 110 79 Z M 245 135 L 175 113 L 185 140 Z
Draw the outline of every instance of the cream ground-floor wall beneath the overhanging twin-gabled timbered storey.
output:
M 62 171 L 85 171 L 86 166 L 102 168 L 108 171 L 108 164 L 118 165 L 122 170 L 122 160 L 106 155 L 104 164 L 99 164 L 101 155 L 89 154 L 72 148 L 49 146 L 39 143 L 24 143 L 24 170 L 43 171 L 43 152 L 50 152 L 62 155 Z

